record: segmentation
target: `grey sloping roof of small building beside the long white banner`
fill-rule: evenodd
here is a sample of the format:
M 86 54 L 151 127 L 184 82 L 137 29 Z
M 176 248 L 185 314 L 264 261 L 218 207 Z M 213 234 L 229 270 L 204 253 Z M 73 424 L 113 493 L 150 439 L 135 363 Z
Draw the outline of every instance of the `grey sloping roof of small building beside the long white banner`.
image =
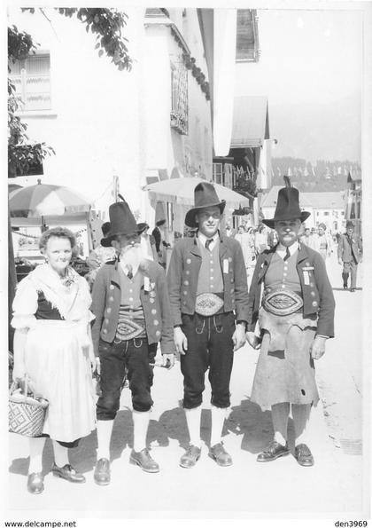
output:
M 267 98 L 239 96 L 234 99 L 231 148 L 261 146 L 269 139 Z

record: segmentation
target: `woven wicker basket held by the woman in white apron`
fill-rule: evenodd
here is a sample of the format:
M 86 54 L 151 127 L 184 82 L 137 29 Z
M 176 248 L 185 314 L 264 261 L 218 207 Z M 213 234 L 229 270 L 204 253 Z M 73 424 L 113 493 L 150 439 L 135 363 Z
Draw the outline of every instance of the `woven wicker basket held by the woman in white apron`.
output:
M 28 380 L 25 380 L 23 393 L 13 382 L 9 391 L 8 417 L 9 430 L 25 437 L 39 437 L 43 434 L 43 424 L 48 401 L 27 396 Z

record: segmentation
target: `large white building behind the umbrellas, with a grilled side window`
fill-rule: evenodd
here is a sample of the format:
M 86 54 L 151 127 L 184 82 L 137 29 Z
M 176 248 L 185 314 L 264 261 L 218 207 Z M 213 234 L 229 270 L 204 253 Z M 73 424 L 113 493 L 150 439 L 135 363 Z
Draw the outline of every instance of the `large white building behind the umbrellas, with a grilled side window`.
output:
M 138 221 L 171 224 L 174 210 L 150 201 L 143 186 L 157 179 L 212 178 L 213 137 L 203 24 L 197 9 L 128 7 L 131 71 L 98 56 L 95 35 L 53 8 L 11 8 L 9 23 L 40 43 L 12 66 L 31 141 L 56 155 L 43 162 L 45 184 L 82 193 L 107 219 L 121 193 Z M 20 185 L 36 183 L 19 177 Z

